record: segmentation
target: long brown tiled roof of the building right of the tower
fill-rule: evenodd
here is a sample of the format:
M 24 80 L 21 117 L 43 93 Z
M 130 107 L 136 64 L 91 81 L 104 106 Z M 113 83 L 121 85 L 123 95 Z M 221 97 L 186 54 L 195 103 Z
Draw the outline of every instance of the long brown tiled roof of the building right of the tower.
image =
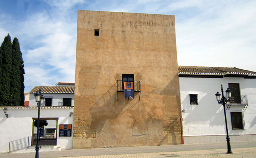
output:
M 236 68 L 236 67 L 198 67 L 198 66 L 178 66 L 178 74 L 256 76 L 256 72 L 243 70 L 241 68 Z

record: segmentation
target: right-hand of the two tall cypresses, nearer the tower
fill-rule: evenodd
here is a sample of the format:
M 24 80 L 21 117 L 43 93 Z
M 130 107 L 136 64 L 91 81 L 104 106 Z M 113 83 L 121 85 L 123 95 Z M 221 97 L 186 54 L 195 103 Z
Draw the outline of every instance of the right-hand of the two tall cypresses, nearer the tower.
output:
M 24 106 L 24 64 L 18 38 L 12 41 L 12 71 L 11 71 L 12 103 L 10 106 Z

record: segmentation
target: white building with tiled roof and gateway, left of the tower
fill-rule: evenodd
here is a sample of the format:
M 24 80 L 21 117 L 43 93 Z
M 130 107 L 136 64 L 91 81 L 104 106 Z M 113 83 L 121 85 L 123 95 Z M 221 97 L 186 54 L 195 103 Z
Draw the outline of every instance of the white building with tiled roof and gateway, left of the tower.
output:
M 9 142 L 16 140 L 17 142 L 14 142 L 14 148 L 20 146 L 20 144 L 28 143 L 31 146 L 35 145 L 37 128 L 34 125 L 38 116 L 38 107 L 34 94 L 40 88 L 41 93 L 45 97 L 45 102 L 40 109 L 40 120 L 47 121 L 48 123 L 41 130 L 41 143 L 48 141 L 47 139 L 51 137 L 51 142 L 53 143 L 50 143 L 55 148 L 72 149 L 75 84 L 59 82 L 57 86 L 34 87 L 29 94 L 29 106 L 0 107 L 2 111 L 0 112 L 0 140 L 2 140 L 0 143 L 0 152 L 8 152 Z M 8 117 L 3 113 L 4 108 L 8 109 L 6 112 Z M 66 132 L 70 133 L 67 134 Z M 30 140 L 27 140 L 27 138 Z M 33 148 L 31 150 L 23 148 L 23 152 L 24 150 L 26 152 L 35 152 Z M 40 149 L 40 151 L 43 151 L 43 149 Z

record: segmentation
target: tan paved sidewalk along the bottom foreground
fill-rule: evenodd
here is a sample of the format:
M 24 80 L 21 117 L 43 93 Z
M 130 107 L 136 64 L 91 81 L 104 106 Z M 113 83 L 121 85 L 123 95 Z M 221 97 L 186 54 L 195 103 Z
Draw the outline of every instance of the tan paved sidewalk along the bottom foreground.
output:
M 226 154 L 227 143 L 168 146 L 73 149 L 39 152 L 40 158 L 256 158 L 256 141 L 231 142 L 233 154 Z M 0 153 L 0 158 L 34 158 L 33 153 Z

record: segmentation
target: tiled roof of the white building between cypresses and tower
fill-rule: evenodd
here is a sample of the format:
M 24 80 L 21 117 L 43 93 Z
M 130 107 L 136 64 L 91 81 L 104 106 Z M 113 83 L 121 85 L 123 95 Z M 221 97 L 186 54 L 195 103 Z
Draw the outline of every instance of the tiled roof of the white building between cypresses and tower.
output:
M 60 86 L 35 86 L 29 93 L 37 93 L 41 87 L 42 93 L 65 93 L 74 94 L 75 87 L 60 87 Z

